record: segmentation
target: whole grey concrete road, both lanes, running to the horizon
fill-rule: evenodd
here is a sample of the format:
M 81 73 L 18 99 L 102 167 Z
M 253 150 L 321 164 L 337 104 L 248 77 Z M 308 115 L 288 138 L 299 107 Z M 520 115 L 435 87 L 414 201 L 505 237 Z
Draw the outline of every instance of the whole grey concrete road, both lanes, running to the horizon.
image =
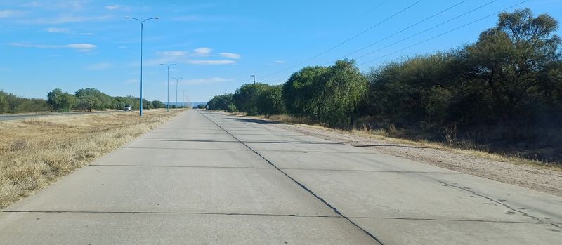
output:
M 562 198 L 190 110 L 0 213 L 0 244 L 561 244 Z

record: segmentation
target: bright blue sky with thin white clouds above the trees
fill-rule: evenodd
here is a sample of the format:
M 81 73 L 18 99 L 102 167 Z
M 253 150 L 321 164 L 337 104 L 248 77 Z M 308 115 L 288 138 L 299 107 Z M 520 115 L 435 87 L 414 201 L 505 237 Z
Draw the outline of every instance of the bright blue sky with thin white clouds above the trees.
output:
M 518 4 L 518 5 L 517 5 Z M 517 5 L 515 7 L 511 7 Z M 509 8 L 511 7 L 511 8 Z M 497 12 L 531 8 L 562 20 L 562 0 L 0 1 L 0 90 L 53 88 L 207 101 L 256 80 L 355 59 L 363 72 L 471 44 Z M 561 31 L 558 30 L 558 35 Z M 159 64 L 177 64 L 167 69 Z M 175 79 L 179 78 L 179 79 Z

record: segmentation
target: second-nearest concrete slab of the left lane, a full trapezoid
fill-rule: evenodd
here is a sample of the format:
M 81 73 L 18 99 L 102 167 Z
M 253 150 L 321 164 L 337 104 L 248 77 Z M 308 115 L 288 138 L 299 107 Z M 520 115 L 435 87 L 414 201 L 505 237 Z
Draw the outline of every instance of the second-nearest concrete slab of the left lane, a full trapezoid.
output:
M 271 168 L 88 166 L 6 210 L 336 216 Z

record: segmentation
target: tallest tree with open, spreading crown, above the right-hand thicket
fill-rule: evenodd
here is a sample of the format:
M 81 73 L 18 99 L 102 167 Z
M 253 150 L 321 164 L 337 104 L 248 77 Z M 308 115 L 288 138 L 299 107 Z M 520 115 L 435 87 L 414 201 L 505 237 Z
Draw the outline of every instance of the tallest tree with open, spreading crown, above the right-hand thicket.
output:
M 483 91 L 497 119 L 521 119 L 525 104 L 533 98 L 553 62 L 559 60 L 561 39 L 554 34 L 558 22 L 530 9 L 501 13 L 496 27 L 480 34 L 466 47 L 467 75 L 473 88 Z

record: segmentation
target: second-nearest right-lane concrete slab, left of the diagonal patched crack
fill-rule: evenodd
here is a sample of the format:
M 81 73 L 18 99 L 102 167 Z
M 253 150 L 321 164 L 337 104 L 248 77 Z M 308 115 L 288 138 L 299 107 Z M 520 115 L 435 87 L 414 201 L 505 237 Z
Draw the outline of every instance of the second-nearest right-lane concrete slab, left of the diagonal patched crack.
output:
M 352 218 L 414 218 L 535 222 L 483 197 L 435 180 L 446 174 L 287 170 Z M 427 178 L 432 176 L 433 178 Z M 462 178 L 455 174 L 456 178 Z

